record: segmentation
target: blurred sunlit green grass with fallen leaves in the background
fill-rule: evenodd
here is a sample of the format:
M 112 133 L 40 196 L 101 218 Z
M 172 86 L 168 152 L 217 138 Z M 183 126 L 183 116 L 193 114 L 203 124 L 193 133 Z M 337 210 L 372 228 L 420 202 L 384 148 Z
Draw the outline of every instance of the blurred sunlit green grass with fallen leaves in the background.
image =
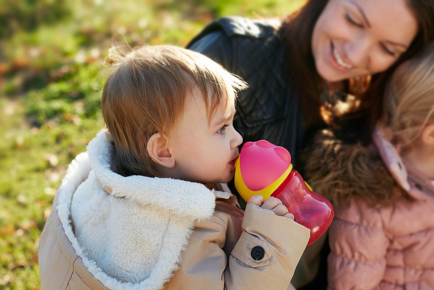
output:
M 0 0 L 0 289 L 40 289 L 56 188 L 103 127 L 109 47 L 185 46 L 217 17 L 282 17 L 303 2 Z

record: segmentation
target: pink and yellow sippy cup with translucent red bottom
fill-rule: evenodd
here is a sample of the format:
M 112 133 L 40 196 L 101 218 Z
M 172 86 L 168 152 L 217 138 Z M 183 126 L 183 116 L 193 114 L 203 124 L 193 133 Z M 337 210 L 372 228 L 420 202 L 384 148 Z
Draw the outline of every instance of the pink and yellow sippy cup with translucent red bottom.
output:
M 332 204 L 312 191 L 291 164 L 283 147 L 266 140 L 247 142 L 235 163 L 235 187 L 244 200 L 260 194 L 279 198 L 294 220 L 310 229 L 308 245 L 318 239 L 333 220 Z

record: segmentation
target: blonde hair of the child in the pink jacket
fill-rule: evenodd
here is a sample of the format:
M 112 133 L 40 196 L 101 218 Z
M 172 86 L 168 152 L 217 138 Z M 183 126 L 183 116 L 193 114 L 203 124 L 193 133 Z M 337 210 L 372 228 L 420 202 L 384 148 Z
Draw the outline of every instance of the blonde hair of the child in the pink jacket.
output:
M 402 150 L 434 123 L 434 42 L 393 74 L 385 95 L 385 123 L 392 142 Z

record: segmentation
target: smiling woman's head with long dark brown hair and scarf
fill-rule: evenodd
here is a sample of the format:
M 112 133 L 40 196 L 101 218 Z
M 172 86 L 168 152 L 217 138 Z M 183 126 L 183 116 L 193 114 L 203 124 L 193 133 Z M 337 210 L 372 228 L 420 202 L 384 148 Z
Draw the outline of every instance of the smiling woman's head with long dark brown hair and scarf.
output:
M 434 36 L 434 1 L 311 0 L 282 29 L 306 126 L 369 143 L 391 73 Z M 356 101 L 339 106 L 348 93 Z

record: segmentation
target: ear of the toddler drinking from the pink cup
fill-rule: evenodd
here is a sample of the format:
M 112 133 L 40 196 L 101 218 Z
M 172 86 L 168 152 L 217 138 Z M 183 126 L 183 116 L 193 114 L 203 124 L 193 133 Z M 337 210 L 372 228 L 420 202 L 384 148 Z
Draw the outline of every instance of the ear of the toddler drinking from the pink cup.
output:
M 167 143 L 165 141 L 168 141 L 166 135 L 155 133 L 149 138 L 146 149 L 148 150 L 149 156 L 156 163 L 167 168 L 172 168 L 175 166 L 175 159 L 166 146 Z

